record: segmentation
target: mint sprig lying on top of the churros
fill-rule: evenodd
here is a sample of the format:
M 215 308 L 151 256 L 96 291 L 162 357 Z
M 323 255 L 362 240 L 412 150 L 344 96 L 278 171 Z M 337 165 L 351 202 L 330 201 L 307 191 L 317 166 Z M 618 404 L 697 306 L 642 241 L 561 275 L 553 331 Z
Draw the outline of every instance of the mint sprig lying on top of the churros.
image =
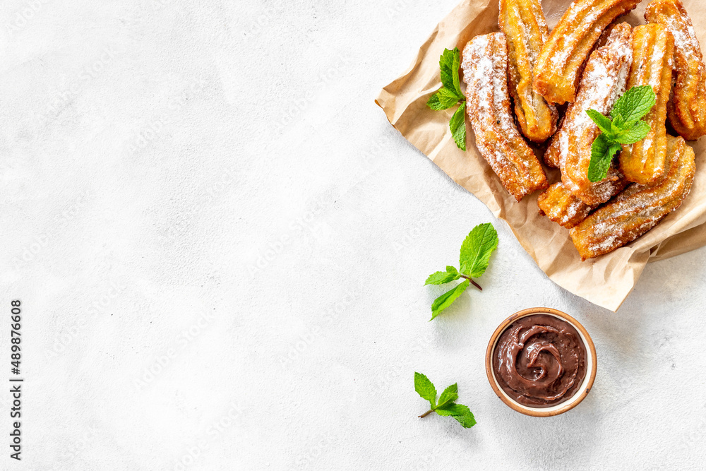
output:
M 652 86 L 640 85 L 630 88 L 618 98 L 611 118 L 605 117 L 595 109 L 586 113 L 601 130 L 591 145 L 591 162 L 588 166 L 588 179 L 601 181 L 608 175 L 608 169 L 622 145 L 642 141 L 650 133 L 650 124 L 640 121 L 657 103 L 657 95 Z

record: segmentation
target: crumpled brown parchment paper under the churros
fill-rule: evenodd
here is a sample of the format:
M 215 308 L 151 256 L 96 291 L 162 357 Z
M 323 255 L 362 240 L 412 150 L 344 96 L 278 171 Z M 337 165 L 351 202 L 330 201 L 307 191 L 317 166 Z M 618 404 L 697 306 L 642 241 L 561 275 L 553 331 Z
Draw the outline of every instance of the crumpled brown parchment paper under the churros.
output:
M 621 18 L 632 25 L 644 23 L 649 1 Z M 569 0 L 544 0 L 542 7 L 553 28 Z M 706 46 L 706 2 L 683 0 L 702 47 Z M 594 304 L 616 311 L 633 290 L 645 265 L 706 245 L 706 152 L 705 138 L 690 142 L 696 153 L 696 177 L 691 193 L 678 210 L 667 215 L 650 232 L 611 254 L 582 262 L 568 229 L 539 215 L 537 196 L 520 203 L 505 191 L 500 180 L 479 155 L 467 121 L 467 151 L 458 149 L 448 121 L 455 107 L 437 112 L 426 107 L 429 96 L 441 87 L 438 59 L 444 48 L 463 49 L 476 35 L 498 31 L 498 0 L 465 0 L 436 26 L 419 48 L 412 66 L 385 86 L 376 103 L 402 136 L 441 167 L 457 184 L 485 203 L 496 217 L 505 220 L 517 240 L 539 268 L 566 290 Z M 706 49 L 704 50 L 706 52 Z M 547 173 L 558 181 L 556 170 Z

